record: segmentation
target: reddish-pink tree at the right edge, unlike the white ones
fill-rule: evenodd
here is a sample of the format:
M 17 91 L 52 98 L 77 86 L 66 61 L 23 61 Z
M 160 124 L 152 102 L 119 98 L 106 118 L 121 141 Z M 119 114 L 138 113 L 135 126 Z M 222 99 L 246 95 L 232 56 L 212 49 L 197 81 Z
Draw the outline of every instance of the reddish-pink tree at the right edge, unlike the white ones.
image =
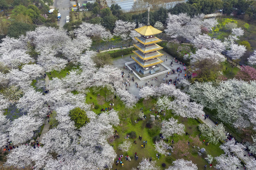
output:
M 256 80 L 256 69 L 250 66 L 243 66 L 235 76 L 238 80 L 251 81 Z

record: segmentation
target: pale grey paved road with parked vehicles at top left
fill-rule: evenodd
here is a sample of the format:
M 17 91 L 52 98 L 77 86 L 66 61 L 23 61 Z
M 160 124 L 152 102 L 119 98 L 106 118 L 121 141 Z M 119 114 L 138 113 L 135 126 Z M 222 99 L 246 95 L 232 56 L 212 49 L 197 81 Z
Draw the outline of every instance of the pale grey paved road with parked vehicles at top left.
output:
M 54 8 L 58 8 L 59 13 L 61 13 L 61 19 L 57 25 L 63 27 L 66 23 L 66 16 L 69 16 L 70 0 L 54 0 L 53 6 Z

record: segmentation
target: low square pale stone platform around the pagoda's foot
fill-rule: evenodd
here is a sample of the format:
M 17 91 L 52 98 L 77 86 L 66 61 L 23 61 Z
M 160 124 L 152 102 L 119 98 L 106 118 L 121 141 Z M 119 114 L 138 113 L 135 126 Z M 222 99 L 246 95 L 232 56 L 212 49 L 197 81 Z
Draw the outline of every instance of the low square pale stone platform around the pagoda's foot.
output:
M 147 78 L 152 78 L 171 71 L 171 68 L 168 68 L 163 63 L 158 64 L 158 66 L 155 66 L 155 69 L 151 70 L 142 70 L 135 61 L 127 62 L 125 65 L 129 70 L 133 71 L 133 74 L 137 76 L 139 80 L 146 80 Z

